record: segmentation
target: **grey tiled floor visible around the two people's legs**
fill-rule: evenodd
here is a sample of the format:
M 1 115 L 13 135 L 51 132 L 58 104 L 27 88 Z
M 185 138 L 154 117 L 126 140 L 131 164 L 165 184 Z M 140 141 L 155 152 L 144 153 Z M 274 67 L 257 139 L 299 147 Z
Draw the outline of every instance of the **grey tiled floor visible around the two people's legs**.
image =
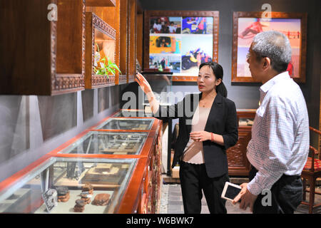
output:
M 318 188 L 321 190 L 321 187 Z M 309 194 L 307 193 L 307 199 Z M 321 203 L 321 195 L 315 195 L 315 203 Z M 228 214 L 250 214 L 250 209 L 248 208 L 246 211 L 240 209 L 238 204 L 233 205 L 231 202 L 226 202 L 226 209 L 228 210 Z M 161 192 L 161 208 L 160 214 L 183 214 L 183 200 L 180 191 L 180 184 L 165 184 L 162 185 Z M 202 199 L 202 214 L 209 214 L 208 206 L 206 204 L 205 197 Z M 308 206 L 300 204 L 295 211 L 295 214 L 307 214 Z M 321 214 L 321 207 L 317 207 L 313 211 L 314 214 Z

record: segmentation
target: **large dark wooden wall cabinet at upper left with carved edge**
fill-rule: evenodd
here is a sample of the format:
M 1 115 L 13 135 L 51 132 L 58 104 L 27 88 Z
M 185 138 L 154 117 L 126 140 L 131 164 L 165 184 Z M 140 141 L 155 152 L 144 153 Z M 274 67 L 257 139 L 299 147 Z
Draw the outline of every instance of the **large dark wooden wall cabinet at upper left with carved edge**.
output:
M 0 94 L 56 95 L 84 89 L 84 0 L 0 4 Z

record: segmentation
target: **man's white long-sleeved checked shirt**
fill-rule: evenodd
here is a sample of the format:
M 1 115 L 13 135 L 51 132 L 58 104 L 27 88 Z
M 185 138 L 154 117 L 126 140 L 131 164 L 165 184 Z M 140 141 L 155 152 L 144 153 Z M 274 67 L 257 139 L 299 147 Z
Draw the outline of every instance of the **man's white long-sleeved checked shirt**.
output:
M 287 71 L 260 87 L 247 157 L 258 170 L 248 190 L 259 195 L 285 175 L 300 175 L 309 152 L 309 119 L 300 87 Z

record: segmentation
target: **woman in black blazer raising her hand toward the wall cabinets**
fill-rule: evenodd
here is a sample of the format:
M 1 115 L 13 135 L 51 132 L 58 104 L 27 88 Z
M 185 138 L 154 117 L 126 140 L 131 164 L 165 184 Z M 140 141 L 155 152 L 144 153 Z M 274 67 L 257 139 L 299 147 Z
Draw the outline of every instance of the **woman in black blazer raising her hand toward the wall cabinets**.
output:
M 238 140 L 238 122 L 235 104 L 226 98 L 222 66 L 200 64 L 197 84 L 201 93 L 186 95 L 170 106 L 159 105 L 146 79 L 140 73 L 136 77 L 156 118 L 179 118 L 172 167 L 180 162 L 184 212 L 200 213 L 203 190 L 210 213 L 225 214 L 225 200 L 220 197 L 229 180 L 225 150 Z

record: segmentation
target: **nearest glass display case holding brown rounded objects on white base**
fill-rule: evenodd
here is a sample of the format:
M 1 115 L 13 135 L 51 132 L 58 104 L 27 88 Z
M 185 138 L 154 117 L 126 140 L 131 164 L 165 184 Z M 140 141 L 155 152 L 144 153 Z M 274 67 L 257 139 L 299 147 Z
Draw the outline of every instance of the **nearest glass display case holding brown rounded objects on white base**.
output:
M 114 213 L 137 160 L 51 157 L 0 192 L 0 213 Z

